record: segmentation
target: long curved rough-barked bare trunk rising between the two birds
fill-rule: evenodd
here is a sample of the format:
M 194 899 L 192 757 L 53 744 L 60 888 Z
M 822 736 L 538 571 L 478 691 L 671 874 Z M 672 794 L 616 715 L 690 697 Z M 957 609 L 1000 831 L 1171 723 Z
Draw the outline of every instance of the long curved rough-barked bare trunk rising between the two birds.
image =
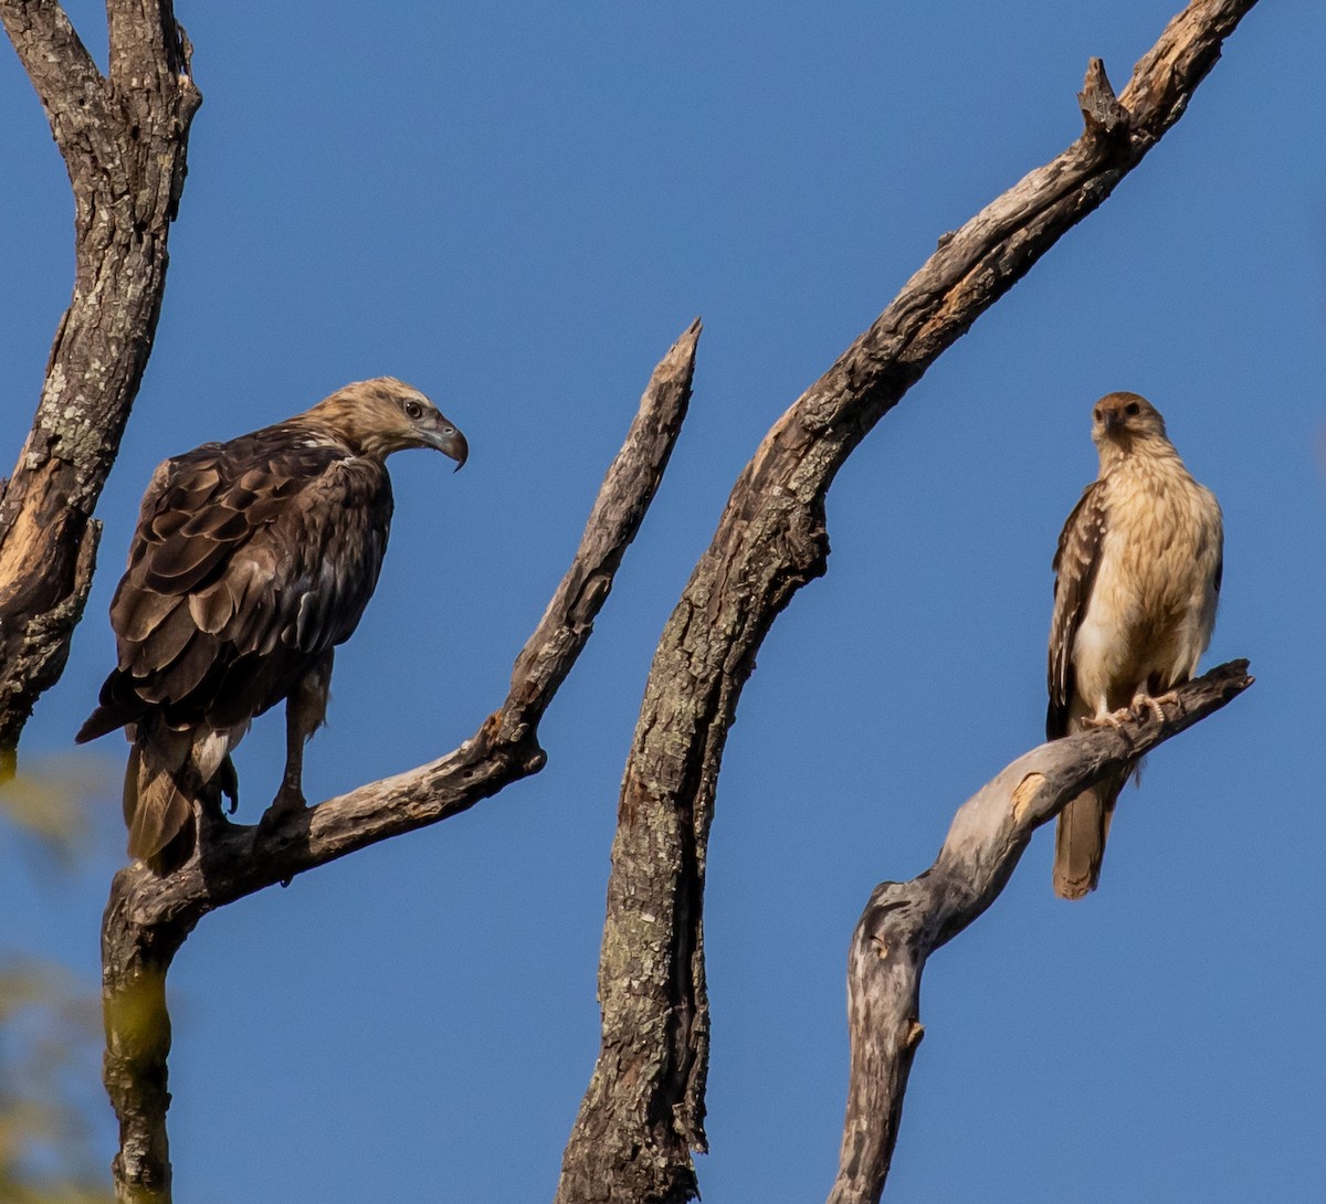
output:
M 1183 114 L 1254 0 L 1195 0 L 1115 99 L 1098 60 L 1086 129 L 987 206 L 765 436 L 672 613 L 626 764 L 599 963 L 602 1046 L 558 1204 L 684 1201 L 704 1150 L 709 1017 L 701 898 L 723 747 L 765 632 L 825 570 L 838 468 L 907 389 Z

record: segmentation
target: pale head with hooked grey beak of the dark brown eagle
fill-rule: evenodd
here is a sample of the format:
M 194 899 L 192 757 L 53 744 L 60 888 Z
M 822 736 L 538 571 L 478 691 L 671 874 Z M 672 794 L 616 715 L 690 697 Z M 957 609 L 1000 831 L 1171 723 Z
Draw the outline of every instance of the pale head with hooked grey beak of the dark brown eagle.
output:
M 407 447 L 431 447 L 451 456 L 459 472 L 469 455 L 469 444 L 456 424 L 418 389 L 395 377 L 346 385 L 318 402 L 309 416 L 379 460 Z

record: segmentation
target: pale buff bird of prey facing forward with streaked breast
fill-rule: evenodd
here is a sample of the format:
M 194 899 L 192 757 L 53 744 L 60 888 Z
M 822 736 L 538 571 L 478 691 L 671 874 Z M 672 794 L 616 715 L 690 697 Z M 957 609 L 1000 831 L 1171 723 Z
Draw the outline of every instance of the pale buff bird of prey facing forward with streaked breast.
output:
M 1091 411 L 1101 473 L 1063 524 L 1054 554 L 1050 623 L 1050 740 L 1118 724 L 1187 682 L 1211 642 L 1224 529 L 1166 436 L 1164 419 L 1135 392 Z M 1131 766 L 1074 798 L 1054 838 L 1054 891 L 1095 890 L 1114 804 Z

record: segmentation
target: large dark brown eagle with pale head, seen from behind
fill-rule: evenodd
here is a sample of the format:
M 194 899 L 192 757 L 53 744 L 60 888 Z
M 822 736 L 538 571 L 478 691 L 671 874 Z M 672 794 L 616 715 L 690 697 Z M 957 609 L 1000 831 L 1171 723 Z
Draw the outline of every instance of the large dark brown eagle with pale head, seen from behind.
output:
M 304 744 L 326 716 L 333 648 L 378 582 L 392 505 L 385 461 L 407 447 L 435 448 L 457 469 L 468 455 L 428 398 L 381 377 L 156 469 L 110 605 L 119 663 L 77 736 L 123 727 L 133 743 L 130 857 L 158 873 L 188 859 L 195 802 L 235 794 L 229 753 L 282 699 L 286 764 L 272 808 L 305 805 Z

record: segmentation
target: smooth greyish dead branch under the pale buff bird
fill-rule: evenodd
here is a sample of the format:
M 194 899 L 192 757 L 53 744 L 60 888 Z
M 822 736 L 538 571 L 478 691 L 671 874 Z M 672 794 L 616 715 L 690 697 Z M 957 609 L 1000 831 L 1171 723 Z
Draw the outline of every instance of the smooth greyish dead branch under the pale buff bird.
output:
M 838 1179 L 829 1204 L 875 1204 L 888 1175 L 920 1025 L 926 960 L 998 898 L 1032 839 L 1063 804 L 1111 770 L 1192 727 L 1252 684 L 1248 662 L 1213 668 L 1120 729 L 1042 744 L 973 794 L 953 817 L 935 863 L 870 896 L 847 959 L 851 1077 Z

